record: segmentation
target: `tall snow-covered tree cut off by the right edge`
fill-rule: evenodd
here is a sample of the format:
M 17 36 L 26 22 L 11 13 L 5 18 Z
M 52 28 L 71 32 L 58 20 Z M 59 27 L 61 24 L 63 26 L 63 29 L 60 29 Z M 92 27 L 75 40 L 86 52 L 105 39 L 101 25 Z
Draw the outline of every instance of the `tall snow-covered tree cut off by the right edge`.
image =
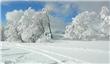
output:
M 110 11 L 107 7 L 103 6 L 99 14 L 101 21 L 101 32 L 105 35 L 105 38 L 110 38 Z M 109 39 L 108 38 L 108 39 Z

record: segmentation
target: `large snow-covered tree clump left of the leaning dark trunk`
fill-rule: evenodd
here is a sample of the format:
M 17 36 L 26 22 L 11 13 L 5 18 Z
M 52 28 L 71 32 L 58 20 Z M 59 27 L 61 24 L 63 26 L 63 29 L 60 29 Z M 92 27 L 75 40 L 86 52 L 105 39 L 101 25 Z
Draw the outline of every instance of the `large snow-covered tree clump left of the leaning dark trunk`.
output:
M 30 7 L 25 10 L 15 10 L 6 14 L 8 21 L 5 35 L 7 41 L 36 42 L 39 38 L 50 33 L 48 11 L 35 11 Z M 48 29 L 48 31 L 47 31 Z M 42 36 L 43 35 L 43 36 Z

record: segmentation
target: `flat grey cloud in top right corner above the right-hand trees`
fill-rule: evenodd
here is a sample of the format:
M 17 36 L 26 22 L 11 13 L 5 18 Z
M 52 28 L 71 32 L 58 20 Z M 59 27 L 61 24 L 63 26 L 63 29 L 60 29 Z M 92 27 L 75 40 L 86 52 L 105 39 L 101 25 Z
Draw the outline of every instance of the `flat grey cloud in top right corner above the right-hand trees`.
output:
M 75 2 L 81 11 L 96 11 L 99 12 L 102 6 L 106 6 L 110 10 L 110 0 L 109 1 L 83 1 L 83 2 Z

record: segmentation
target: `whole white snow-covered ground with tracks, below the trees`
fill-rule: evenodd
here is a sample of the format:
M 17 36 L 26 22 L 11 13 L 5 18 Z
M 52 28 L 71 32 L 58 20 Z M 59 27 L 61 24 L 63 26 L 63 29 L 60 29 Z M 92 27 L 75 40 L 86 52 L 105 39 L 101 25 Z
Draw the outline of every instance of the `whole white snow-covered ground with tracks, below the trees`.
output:
M 109 64 L 109 41 L 0 43 L 3 64 Z

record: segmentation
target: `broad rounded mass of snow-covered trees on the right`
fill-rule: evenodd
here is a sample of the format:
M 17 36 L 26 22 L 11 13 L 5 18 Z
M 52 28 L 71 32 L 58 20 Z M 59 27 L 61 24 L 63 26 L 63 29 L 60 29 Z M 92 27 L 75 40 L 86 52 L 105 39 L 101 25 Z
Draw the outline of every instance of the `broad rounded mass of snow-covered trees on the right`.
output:
M 65 37 L 74 40 L 109 40 L 110 15 L 106 7 L 100 14 L 82 12 L 66 26 Z

